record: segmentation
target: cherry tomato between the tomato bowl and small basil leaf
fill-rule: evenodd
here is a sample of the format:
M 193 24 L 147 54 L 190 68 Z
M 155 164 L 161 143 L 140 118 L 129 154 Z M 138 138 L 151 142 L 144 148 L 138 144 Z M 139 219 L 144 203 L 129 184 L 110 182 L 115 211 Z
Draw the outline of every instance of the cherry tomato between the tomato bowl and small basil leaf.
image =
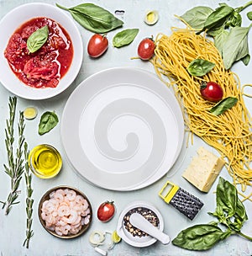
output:
M 87 44 L 87 53 L 92 58 L 102 56 L 108 49 L 108 38 L 105 35 L 94 34 Z

